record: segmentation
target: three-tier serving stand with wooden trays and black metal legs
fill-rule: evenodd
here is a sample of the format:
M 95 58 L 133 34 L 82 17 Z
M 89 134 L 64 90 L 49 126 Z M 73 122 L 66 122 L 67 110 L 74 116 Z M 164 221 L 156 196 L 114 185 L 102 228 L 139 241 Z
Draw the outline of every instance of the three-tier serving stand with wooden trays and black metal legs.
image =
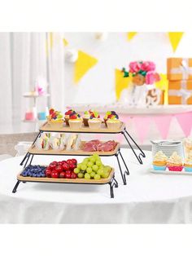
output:
M 124 122 L 121 123 L 121 126 L 119 129 L 116 130 L 109 130 L 107 128 L 107 126 L 105 125 L 105 123 L 102 123 L 102 126 L 100 129 L 98 130 L 92 130 L 87 126 L 82 126 L 80 129 L 78 130 L 73 130 L 72 128 L 70 128 L 69 126 L 64 125 L 62 128 L 55 128 L 54 126 L 51 126 L 50 124 L 48 124 L 48 122 L 44 123 L 40 129 L 39 129 L 39 133 L 36 137 L 36 139 L 33 141 L 33 144 L 31 146 L 31 148 L 28 149 L 28 152 L 26 153 L 26 155 L 24 156 L 24 159 L 21 161 L 20 166 L 24 165 L 24 168 L 27 166 L 28 162 L 29 165 L 32 164 L 33 158 L 36 155 L 52 155 L 52 156 L 90 156 L 93 155 L 94 153 L 97 153 L 100 157 L 112 157 L 115 156 L 119 169 L 120 169 L 120 175 L 121 175 L 121 179 L 124 183 L 124 185 L 126 185 L 127 181 L 126 181 L 126 175 L 129 175 L 129 169 L 128 166 L 126 164 L 126 162 L 124 161 L 124 157 L 122 155 L 122 153 L 120 152 L 120 143 L 117 143 L 116 148 L 111 151 L 111 152 L 85 152 L 81 149 L 79 150 L 62 150 L 62 151 L 55 151 L 53 149 L 49 149 L 49 150 L 37 150 L 37 148 L 35 147 L 35 142 L 37 140 L 37 138 L 41 137 L 42 133 L 50 133 L 50 132 L 58 132 L 58 133 L 76 133 L 76 134 L 122 134 L 124 135 L 124 138 L 126 139 L 127 143 L 129 144 L 129 147 L 132 149 L 133 154 L 135 155 L 135 157 L 137 158 L 137 161 L 142 164 L 142 157 L 146 157 L 145 153 L 142 151 L 142 149 L 137 145 L 137 143 L 134 141 L 134 139 L 132 138 L 131 135 L 129 135 L 128 130 L 126 130 L 126 127 L 124 125 Z M 137 154 L 137 152 L 134 150 L 132 143 L 134 143 L 134 145 L 136 146 L 136 148 L 139 150 L 139 153 Z M 122 163 L 124 165 L 124 169 L 122 169 Z M 16 192 L 18 186 L 20 183 L 27 183 L 27 182 L 35 182 L 35 183 L 77 183 L 77 184 L 94 184 L 94 185 L 101 185 L 101 184 L 109 184 L 110 187 L 110 195 L 111 198 L 114 197 L 114 187 L 118 188 L 118 183 L 116 181 L 115 178 L 115 170 L 112 169 L 111 173 L 109 175 L 109 177 L 107 179 L 52 179 L 52 178 L 36 178 L 36 177 L 23 177 L 20 174 L 17 175 L 17 182 L 15 184 L 15 187 L 13 188 L 13 193 Z

